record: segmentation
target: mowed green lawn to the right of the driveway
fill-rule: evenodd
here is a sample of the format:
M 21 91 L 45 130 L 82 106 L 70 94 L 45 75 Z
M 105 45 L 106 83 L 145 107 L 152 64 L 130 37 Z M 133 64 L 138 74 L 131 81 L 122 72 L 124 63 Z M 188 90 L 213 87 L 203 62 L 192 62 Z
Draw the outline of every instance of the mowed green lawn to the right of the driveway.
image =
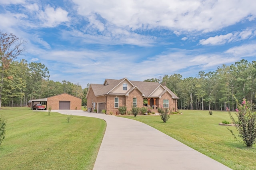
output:
M 234 139 L 226 126 L 218 125 L 231 121 L 228 112 L 213 111 L 209 115 L 208 111 L 181 111 L 183 115 L 170 115 L 166 123 L 159 115 L 123 117 L 146 123 L 233 170 L 256 169 L 256 147 L 247 148 Z M 235 127 L 229 128 L 238 134 Z

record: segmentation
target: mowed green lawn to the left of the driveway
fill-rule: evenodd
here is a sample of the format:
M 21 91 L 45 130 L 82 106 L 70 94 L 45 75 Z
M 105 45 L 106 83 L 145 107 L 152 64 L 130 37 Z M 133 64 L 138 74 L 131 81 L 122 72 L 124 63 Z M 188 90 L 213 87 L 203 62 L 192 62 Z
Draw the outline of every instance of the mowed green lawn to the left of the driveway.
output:
M 2 170 L 91 170 L 106 129 L 102 119 L 3 108 L 6 138 L 0 145 Z

